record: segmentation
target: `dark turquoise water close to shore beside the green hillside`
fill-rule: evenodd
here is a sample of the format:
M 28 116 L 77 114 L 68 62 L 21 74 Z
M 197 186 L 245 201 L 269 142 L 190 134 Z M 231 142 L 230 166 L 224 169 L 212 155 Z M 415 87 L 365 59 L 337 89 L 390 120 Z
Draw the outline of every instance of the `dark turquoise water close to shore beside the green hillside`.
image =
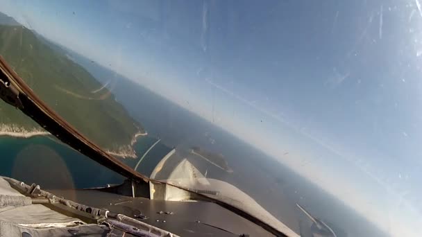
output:
M 154 141 L 151 137 L 139 137 L 135 143 L 138 157 Z M 0 137 L 0 160 L 0 175 L 29 184 L 35 182 L 44 188 L 90 188 L 119 184 L 124 180 L 121 175 L 52 137 Z M 132 158 L 121 161 L 132 167 L 137 163 L 137 159 Z

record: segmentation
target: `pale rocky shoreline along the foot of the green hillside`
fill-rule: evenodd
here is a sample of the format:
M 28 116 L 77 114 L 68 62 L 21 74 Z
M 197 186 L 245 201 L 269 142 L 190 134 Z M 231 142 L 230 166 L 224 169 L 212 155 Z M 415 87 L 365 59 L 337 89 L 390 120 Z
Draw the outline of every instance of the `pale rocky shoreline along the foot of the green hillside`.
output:
M 26 129 L 19 127 L 18 125 L 6 125 L 6 124 L 0 124 L 0 137 L 16 137 L 16 138 L 22 138 L 22 139 L 28 139 L 31 137 L 49 137 L 51 133 L 46 132 L 42 129 L 32 128 L 32 129 Z M 148 135 L 148 132 L 137 132 L 133 139 L 130 141 L 130 145 L 121 146 L 117 150 L 109 150 L 105 149 L 104 151 L 107 152 L 109 155 L 119 157 L 119 158 L 133 158 L 136 159 L 137 155 L 135 150 L 133 149 L 133 146 L 137 142 L 137 137 L 143 137 Z

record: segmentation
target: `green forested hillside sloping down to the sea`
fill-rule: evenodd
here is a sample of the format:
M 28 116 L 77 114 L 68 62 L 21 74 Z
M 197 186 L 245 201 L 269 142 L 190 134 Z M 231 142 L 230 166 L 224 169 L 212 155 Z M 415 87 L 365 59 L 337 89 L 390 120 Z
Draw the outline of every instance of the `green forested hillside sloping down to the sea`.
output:
M 0 54 L 35 93 L 69 123 L 108 150 L 129 145 L 143 132 L 108 89 L 23 26 L 0 25 Z M 101 90 L 99 90 L 101 89 Z M 38 128 L 17 109 L 0 103 L 0 124 Z

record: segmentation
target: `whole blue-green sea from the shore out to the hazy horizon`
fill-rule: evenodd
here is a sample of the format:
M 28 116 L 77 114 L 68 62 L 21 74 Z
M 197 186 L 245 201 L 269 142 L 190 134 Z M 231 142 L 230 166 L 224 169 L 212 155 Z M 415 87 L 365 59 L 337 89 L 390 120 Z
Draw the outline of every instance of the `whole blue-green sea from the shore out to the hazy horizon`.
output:
M 232 134 L 77 53 L 69 53 L 100 81 L 107 80 L 102 78 L 118 80 L 119 83 L 110 83 L 109 89 L 148 132 L 147 136 L 137 137 L 134 150 L 138 158 L 119 158 L 121 161 L 135 167 L 146 150 L 160 139 L 158 146 L 141 162 L 138 168 L 141 173 L 151 173 L 173 147 L 189 150 L 198 146 L 223 153 L 233 169 L 228 173 L 212 166 L 199 167 L 201 173 L 233 184 L 297 233 L 299 225 L 310 227 L 311 224 L 298 211 L 296 202 L 330 225 L 337 236 L 386 236 L 341 200 Z M 121 175 L 51 136 L 0 137 L 0 157 L 0 175 L 28 184 L 37 183 L 47 189 L 92 188 L 124 181 Z

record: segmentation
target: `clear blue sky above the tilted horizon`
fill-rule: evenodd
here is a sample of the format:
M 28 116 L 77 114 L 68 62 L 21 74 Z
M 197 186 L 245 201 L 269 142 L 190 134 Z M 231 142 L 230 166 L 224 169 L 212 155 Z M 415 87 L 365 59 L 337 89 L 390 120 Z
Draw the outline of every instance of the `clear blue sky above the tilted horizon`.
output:
M 419 1 L 187 2 L 0 4 L 264 150 L 382 229 L 414 231 L 422 220 Z

